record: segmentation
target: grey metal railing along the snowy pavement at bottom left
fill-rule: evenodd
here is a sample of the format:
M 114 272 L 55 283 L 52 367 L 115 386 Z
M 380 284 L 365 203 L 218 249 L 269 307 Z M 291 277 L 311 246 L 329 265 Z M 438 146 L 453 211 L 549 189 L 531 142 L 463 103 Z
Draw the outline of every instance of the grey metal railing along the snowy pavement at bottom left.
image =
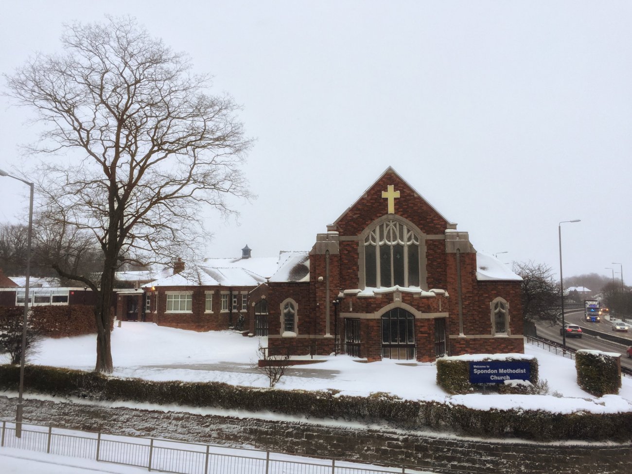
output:
M 107 435 L 100 432 L 42 427 L 25 423 L 22 423 L 21 437 L 18 438 L 15 435 L 13 422 L 2 422 L 0 447 L 95 459 L 172 474 L 406 474 L 422 472 L 419 468 L 413 470 L 408 466 L 399 468 L 362 466 L 358 461 L 349 459 L 308 458 L 273 451 L 149 437 Z

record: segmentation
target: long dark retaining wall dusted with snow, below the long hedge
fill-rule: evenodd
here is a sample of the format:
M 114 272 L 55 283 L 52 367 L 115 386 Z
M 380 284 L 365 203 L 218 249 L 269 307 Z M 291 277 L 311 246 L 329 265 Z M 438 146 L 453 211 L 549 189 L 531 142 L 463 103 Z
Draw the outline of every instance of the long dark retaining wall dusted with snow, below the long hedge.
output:
M 0 418 L 13 420 L 15 405 L 15 398 L 0 397 Z M 307 422 L 106 408 L 93 404 L 25 400 L 24 421 L 110 434 L 253 446 L 387 466 L 414 466 L 436 473 L 465 470 L 485 474 L 628 474 L 632 465 L 630 443 L 482 441 L 388 428 L 332 427 Z

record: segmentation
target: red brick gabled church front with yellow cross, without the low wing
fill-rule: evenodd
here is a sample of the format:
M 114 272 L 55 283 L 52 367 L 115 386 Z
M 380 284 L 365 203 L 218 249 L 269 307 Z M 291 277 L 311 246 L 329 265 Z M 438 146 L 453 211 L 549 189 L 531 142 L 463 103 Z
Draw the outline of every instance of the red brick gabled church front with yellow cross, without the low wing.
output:
M 301 265 L 308 277 L 267 283 L 272 355 L 337 350 L 428 362 L 524 351 L 520 277 L 477 256 L 468 233 L 390 167 Z

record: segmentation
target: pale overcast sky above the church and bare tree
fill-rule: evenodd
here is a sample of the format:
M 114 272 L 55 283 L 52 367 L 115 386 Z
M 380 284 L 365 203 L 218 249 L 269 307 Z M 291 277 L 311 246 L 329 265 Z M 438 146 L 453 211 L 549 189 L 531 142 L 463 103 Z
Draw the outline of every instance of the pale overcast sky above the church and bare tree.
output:
M 105 13 L 243 104 L 258 199 L 234 202 L 239 226 L 208 213 L 209 256 L 309 250 L 392 166 L 477 250 L 559 274 L 558 222 L 581 219 L 562 224 L 564 276 L 621 262 L 632 281 L 632 2 L 22 0 L 1 13 L 0 71 Z M 35 131 L 0 104 L 0 168 L 26 169 Z M 1 179 L 15 221 L 25 186 Z

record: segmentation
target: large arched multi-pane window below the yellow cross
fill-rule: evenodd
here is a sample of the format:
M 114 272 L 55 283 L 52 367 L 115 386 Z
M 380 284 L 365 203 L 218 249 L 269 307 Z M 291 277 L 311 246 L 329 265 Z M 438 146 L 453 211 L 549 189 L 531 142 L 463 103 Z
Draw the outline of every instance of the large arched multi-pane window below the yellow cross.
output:
M 377 224 L 364 239 L 365 286 L 420 286 L 419 249 L 419 236 L 406 224 Z

